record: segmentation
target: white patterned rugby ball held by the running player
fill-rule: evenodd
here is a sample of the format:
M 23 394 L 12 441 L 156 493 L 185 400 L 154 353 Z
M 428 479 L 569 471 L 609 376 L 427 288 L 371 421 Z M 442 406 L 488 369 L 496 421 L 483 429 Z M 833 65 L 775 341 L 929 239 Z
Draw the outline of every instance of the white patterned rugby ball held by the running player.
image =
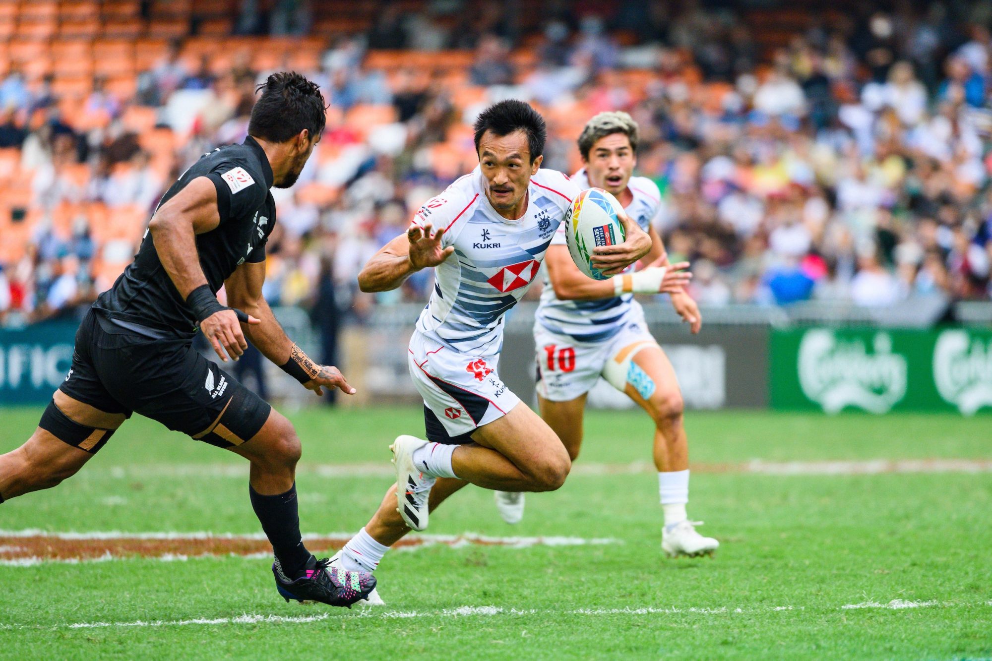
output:
M 626 231 L 617 217 L 623 206 L 602 189 L 582 191 L 572 200 L 564 216 L 564 236 L 568 253 L 578 270 L 593 280 L 608 280 L 592 268 L 592 250 L 601 245 L 623 243 Z

